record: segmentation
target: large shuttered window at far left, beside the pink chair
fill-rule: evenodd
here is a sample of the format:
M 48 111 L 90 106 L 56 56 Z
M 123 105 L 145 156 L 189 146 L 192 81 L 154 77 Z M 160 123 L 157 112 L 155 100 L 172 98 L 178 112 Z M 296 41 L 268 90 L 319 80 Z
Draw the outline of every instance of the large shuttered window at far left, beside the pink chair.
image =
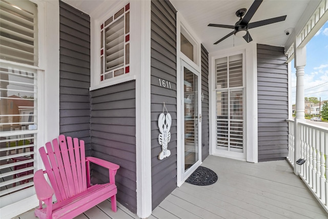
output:
M 0 207 L 4 207 L 34 193 L 38 53 L 37 6 L 29 1 L 0 4 Z

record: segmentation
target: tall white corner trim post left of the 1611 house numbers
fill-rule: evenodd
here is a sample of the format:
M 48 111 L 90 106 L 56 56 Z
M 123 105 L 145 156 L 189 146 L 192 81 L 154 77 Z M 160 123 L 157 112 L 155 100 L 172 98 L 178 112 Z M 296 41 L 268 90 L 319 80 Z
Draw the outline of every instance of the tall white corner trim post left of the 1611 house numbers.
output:
M 151 177 L 151 1 L 130 2 L 131 69 L 136 71 L 136 169 L 137 215 L 146 218 L 152 213 Z

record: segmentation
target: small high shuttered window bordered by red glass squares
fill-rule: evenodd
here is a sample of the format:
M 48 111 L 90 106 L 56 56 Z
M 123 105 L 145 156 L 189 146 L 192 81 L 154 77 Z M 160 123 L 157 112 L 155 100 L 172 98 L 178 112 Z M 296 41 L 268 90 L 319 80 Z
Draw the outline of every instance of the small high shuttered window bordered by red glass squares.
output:
M 100 25 L 100 81 L 130 72 L 130 4 Z

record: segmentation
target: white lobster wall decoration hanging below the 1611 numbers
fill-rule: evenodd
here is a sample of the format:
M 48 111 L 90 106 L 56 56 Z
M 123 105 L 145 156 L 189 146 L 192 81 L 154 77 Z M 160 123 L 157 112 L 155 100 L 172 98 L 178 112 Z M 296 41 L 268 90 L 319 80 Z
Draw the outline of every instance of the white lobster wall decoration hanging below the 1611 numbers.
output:
M 165 107 L 165 103 L 164 103 Z M 165 107 L 166 108 L 166 107 Z M 171 155 L 171 151 L 168 150 L 168 143 L 171 140 L 171 128 L 172 124 L 172 117 L 170 113 L 167 112 L 167 114 L 160 113 L 158 117 L 158 143 L 162 146 L 162 151 L 158 154 L 158 159 L 163 160 L 163 158 L 168 157 Z

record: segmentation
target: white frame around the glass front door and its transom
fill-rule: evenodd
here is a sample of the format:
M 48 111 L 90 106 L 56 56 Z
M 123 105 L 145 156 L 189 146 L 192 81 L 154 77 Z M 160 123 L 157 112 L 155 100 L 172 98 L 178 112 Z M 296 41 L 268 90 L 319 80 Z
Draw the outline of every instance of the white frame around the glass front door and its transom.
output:
M 181 75 L 181 60 L 183 60 L 184 62 L 186 62 L 188 65 L 190 65 L 193 69 L 195 69 L 197 72 L 199 72 L 200 77 L 199 80 L 201 80 L 201 41 L 200 39 L 197 37 L 197 34 L 193 31 L 193 29 L 191 28 L 191 26 L 188 24 L 188 22 L 185 20 L 185 18 L 182 17 L 182 14 L 178 11 L 176 14 L 176 24 L 177 24 L 177 30 L 176 30 L 176 51 L 177 51 L 177 85 L 181 85 L 182 84 L 182 75 Z M 194 46 L 194 52 L 196 49 L 196 55 L 194 55 L 194 57 L 196 57 L 197 61 L 193 62 L 190 60 L 190 58 L 188 58 L 185 54 L 183 54 L 181 52 L 181 46 L 180 46 L 180 41 L 181 41 L 181 37 L 180 37 L 180 33 L 181 33 L 181 28 L 183 28 L 183 33 L 187 33 L 188 35 L 185 35 L 185 37 L 188 38 L 192 38 L 192 41 L 197 43 L 197 45 L 193 45 Z M 197 64 L 196 64 L 197 63 Z M 184 110 L 183 107 L 181 106 L 181 103 L 183 101 L 181 95 L 182 95 L 182 88 L 178 87 L 179 89 L 177 89 L 177 115 L 179 117 L 181 117 L 181 112 Z M 199 88 L 201 90 L 201 87 Z M 201 111 L 200 111 L 201 113 Z M 200 124 L 201 125 L 201 124 Z M 177 136 L 182 136 L 183 134 L 183 120 L 182 118 L 177 119 Z M 201 134 L 199 135 L 199 141 L 201 142 Z M 183 178 L 183 174 L 182 174 L 182 163 L 181 163 L 181 157 L 183 154 L 183 151 L 181 148 L 179 148 L 179 145 L 184 144 L 182 137 L 177 137 L 177 186 L 180 187 L 183 182 L 185 182 L 187 177 Z M 201 164 L 201 160 L 199 165 Z M 190 172 L 191 174 L 192 172 Z

